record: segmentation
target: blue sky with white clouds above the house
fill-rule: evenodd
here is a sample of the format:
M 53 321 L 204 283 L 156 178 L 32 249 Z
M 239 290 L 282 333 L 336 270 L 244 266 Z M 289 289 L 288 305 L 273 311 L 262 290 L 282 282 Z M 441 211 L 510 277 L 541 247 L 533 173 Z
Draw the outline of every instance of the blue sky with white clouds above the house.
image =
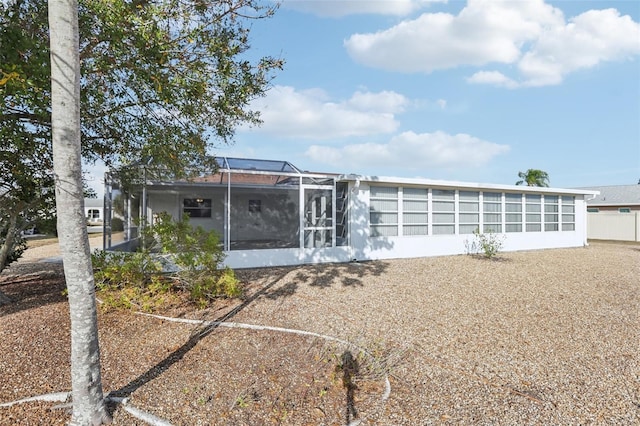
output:
M 304 170 L 552 186 L 640 179 L 640 2 L 284 0 L 285 68 L 228 156 Z

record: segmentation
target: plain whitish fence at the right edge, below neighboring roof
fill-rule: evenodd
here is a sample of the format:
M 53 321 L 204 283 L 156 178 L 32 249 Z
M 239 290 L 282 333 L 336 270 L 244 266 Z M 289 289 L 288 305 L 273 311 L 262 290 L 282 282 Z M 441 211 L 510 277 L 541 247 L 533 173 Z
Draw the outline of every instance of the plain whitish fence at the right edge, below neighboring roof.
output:
M 640 212 L 588 213 L 587 238 L 594 240 L 640 241 Z

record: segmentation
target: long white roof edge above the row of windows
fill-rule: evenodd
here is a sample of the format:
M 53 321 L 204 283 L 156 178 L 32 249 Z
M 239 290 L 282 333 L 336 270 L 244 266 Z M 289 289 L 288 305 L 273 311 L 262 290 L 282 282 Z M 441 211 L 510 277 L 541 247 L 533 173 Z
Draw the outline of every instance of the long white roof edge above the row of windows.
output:
M 437 179 L 421 179 L 421 178 L 401 178 L 389 176 L 363 176 L 363 175 L 341 175 L 337 180 L 361 181 L 361 182 L 378 182 L 385 184 L 404 184 L 404 185 L 422 185 L 431 187 L 447 187 L 447 188 L 465 188 L 465 189 L 495 189 L 500 191 L 513 192 L 535 192 L 535 193 L 552 193 L 552 194 L 572 194 L 572 195 L 591 195 L 596 196 L 600 191 L 567 189 L 567 188 L 548 188 L 544 186 L 521 186 L 521 185 L 502 185 L 493 183 L 475 183 L 447 181 Z

